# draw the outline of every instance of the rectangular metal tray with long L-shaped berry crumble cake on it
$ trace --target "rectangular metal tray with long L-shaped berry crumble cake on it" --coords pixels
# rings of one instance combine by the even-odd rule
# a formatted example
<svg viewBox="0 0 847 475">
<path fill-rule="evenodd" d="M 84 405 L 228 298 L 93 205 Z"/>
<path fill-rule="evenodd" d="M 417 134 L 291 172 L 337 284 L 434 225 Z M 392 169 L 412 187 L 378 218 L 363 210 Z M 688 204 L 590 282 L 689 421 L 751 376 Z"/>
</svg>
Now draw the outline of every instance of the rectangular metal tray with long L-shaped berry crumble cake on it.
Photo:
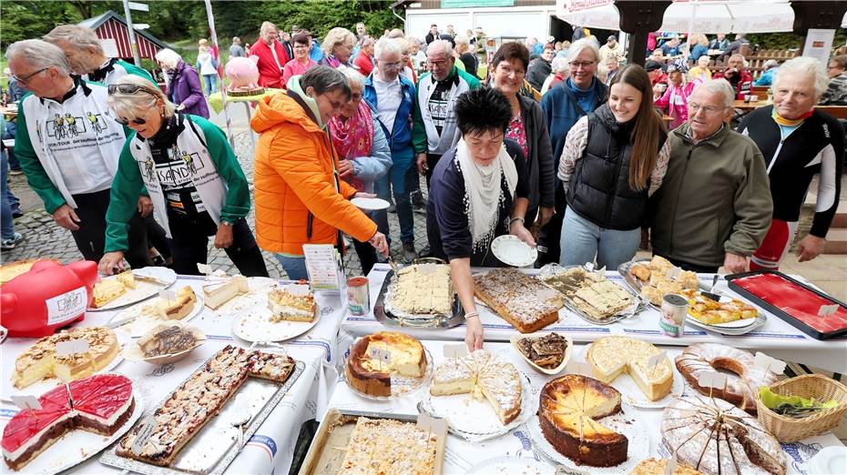
<svg viewBox="0 0 847 475">
<path fill-rule="evenodd" d="M 232 460 L 235 460 L 239 455 L 245 443 L 250 440 L 250 437 L 259 430 L 261 424 L 270 415 L 270 412 L 276 408 L 277 404 L 285 397 L 297 379 L 300 378 L 303 369 L 305 369 L 302 361 L 287 359 L 281 353 L 256 352 L 260 356 L 257 364 L 262 361 L 261 357 L 264 357 L 263 361 L 266 363 L 263 366 L 250 366 L 250 370 L 247 373 L 248 376 L 238 379 L 242 382 L 236 383 L 237 388 L 232 391 L 230 397 L 223 401 L 219 408 L 211 408 L 212 410 L 219 409 L 217 413 L 212 412 L 201 423 L 199 429 L 189 435 L 188 442 L 185 442 L 185 445 L 181 449 L 178 445 L 176 449 L 171 450 L 171 455 L 168 458 L 165 456 L 159 457 L 159 464 L 140 460 L 144 459 L 144 456 L 148 454 L 148 448 L 153 447 L 154 449 L 152 450 L 156 450 L 155 448 L 158 447 L 155 442 L 150 440 L 153 440 L 154 437 L 159 437 L 157 431 L 167 432 L 167 430 L 175 430 L 174 428 L 182 426 L 168 425 L 162 428 L 160 425 L 153 424 L 154 429 L 148 431 L 153 435 L 149 439 L 142 439 L 143 441 L 139 443 L 140 449 L 137 456 L 130 457 L 124 454 L 122 450 L 125 450 L 128 446 L 131 447 L 128 450 L 134 450 L 136 445 L 134 442 L 138 442 L 136 438 L 144 438 L 144 435 L 141 435 L 145 432 L 144 426 L 153 420 L 150 416 L 157 415 L 160 410 L 174 409 L 175 406 L 178 406 L 178 404 L 173 402 L 173 400 L 176 400 L 175 395 L 180 390 L 183 392 L 189 390 L 186 389 L 187 385 L 195 379 L 202 379 L 204 372 L 215 368 L 211 365 L 220 361 L 231 362 L 232 359 L 227 359 L 230 355 L 242 355 L 246 351 L 250 350 L 228 346 L 212 355 L 205 364 L 200 365 L 199 369 L 191 373 L 179 385 L 178 389 L 175 389 L 173 393 L 169 394 L 158 405 L 146 411 L 136 429 L 130 430 L 124 439 L 118 441 L 117 444 L 104 452 L 99 459 L 100 463 L 130 472 L 150 475 L 223 473 Z M 221 357 L 221 355 L 224 356 Z M 287 378 L 273 372 L 275 370 L 274 368 L 280 368 L 279 366 L 274 366 L 274 361 L 280 361 L 281 359 L 288 360 L 288 363 L 285 363 L 287 365 L 285 371 L 290 371 Z M 254 359 L 251 359 L 251 361 L 254 361 Z M 291 368 L 291 365 L 293 368 Z M 228 379 L 232 380 L 235 378 Z M 280 382 L 281 379 L 284 379 L 284 382 Z M 166 406 L 168 402 L 170 404 Z M 165 417 L 173 416 L 167 415 Z M 166 437 L 162 437 L 161 440 L 171 440 L 168 438 L 168 433 L 163 433 L 163 435 Z M 177 444 L 179 442 L 173 443 Z M 167 447 L 169 446 L 166 446 L 166 449 Z M 165 449 L 158 450 L 163 452 Z M 158 457 L 159 455 L 159 452 L 153 452 L 153 455 L 150 455 L 150 457 Z M 168 460 L 170 461 L 168 462 Z"/>
</svg>

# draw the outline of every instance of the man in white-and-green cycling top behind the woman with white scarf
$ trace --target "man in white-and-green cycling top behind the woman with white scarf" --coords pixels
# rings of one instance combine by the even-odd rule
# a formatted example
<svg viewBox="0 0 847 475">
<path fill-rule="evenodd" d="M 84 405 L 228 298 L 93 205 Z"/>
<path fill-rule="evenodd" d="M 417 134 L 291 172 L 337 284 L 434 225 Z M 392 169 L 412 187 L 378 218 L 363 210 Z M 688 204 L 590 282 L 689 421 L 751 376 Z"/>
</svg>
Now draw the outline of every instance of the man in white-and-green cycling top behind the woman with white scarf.
<svg viewBox="0 0 847 475">
<path fill-rule="evenodd" d="M 429 44 L 426 64 L 430 72 L 421 76 L 417 84 L 412 144 L 418 172 L 426 176 L 429 186 L 435 164 L 461 136 L 456 128 L 456 98 L 479 87 L 479 80 L 455 66 L 453 47 L 446 40 Z"/>
</svg>

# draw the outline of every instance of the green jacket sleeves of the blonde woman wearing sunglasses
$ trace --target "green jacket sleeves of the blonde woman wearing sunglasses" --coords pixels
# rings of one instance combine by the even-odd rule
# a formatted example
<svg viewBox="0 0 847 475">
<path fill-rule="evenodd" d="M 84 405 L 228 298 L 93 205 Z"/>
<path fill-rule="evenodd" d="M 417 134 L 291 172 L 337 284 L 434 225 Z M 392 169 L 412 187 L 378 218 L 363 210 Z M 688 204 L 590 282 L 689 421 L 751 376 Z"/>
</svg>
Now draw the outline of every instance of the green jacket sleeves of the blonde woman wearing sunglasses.
<svg viewBox="0 0 847 475">
<path fill-rule="evenodd" d="M 226 197 L 220 208 L 220 221 L 233 224 L 250 212 L 250 186 L 247 178 L 244 177 L 238 158 L 235 157 L 223 131 L 203 117 L 189 116 L 189 119 L 199 126 L 205 137 L 205 146 L 212 165 L 227 187 Z M 181 134 L 193 134 L 189 127 L 186 121 L 185 130 Z M 129 248 L 126 223 L 136 212 L 138 195 L 144 186 L 138 160 L 130 151 L 130 147 L 135 143 L 135 134 L 133 132 L 128 137 L 117 162 L 117 174 L 112 183 L 111 201 L 106 214 L 106 252 Z"/>
</svg>

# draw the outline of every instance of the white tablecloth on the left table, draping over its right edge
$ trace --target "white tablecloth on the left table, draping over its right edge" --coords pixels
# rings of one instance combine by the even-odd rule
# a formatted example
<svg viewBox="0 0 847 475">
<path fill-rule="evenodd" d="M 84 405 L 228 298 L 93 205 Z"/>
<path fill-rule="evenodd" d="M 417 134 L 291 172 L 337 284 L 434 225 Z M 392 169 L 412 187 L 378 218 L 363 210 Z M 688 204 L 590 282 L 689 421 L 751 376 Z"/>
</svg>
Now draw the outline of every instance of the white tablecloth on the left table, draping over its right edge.
<svg viewBox="0 0 847 475">
<path fill-rule="evenodd" d="M 200 294 L 203 278 L 180 276 L 172 288 L 190 285 Z M 339 295 L 318 293 L 316 296 L 321 317 L 317 325 L 297 339 L 285 342 L 285 350 L 293 359 L 305 363 L 305 370 L 294 383 L 285 398 L 274 409 L 260 429 L 250 439 L 240 455 L 232 461 L 230 473 L 287 473 L 291 467 L 294 445 L 297 442 L 304 421 L 315 419 L 317 414 L 326 412 L 329 397 L 335 387 L 336 336 L 341 319 L 346 312 L 341 306 Z M 96 326 L 105 324 L 118 310 L 88 312 L 86 319 L 77 326 Z M 175 364 L 151 365 L 143 362 L 121 361 L 113 372 L 126 375 L 133 380 L 136 389 L 146 402 L 145 413 L 156 409 L 158 403 L 176 389 L 183 379 L 188 378 L 206 359 L 228 344 L 249 347 L 250 343 L 234 339 L 230 330 L 229 318 L 221 318 L 209 308 L 203 308 L 200 314 L 189 321 L 190 325 L 203 330 L 207 342 L 195 349 L 187 359 Z M 3 364 L 0 365 L 0 378 L 11 378 L 15 358 L 29 348 L 35 339 L 7 339 L 0 347 Z M 275 351 L 276 349 L 270 349 Z M 2 395 L 0 401 L 0 430 L 17 412 L 17 408 Z M 72 472 L 110 473 L 119 470 L 100 464 L 99 455 L 77 465 Z M 5 464 L 3 465 L 5 467 Z M 5 471 L 5 469 L 4 469 Z"/>
</svg>

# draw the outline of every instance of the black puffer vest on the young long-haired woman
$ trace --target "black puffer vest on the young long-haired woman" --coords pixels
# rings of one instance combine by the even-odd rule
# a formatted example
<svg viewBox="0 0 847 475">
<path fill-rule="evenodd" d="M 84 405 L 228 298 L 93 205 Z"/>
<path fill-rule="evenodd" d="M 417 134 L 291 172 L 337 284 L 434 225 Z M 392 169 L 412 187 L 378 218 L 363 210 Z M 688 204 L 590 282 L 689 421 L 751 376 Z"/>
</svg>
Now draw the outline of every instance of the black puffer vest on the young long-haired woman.
<svg viewBox="0 0 847 475">
<path fill-rule="evenodd" d="M 587 145 L 570 178 L 567 204 L 599 227 L 626 231 L 644 223 L 648 189 L 629 187 L 634 125 L 634 120 L 617 123 L 607 104 L 588 114 Z M 658 143 L 665 138 L 662 134 Z"/>
</svg>

